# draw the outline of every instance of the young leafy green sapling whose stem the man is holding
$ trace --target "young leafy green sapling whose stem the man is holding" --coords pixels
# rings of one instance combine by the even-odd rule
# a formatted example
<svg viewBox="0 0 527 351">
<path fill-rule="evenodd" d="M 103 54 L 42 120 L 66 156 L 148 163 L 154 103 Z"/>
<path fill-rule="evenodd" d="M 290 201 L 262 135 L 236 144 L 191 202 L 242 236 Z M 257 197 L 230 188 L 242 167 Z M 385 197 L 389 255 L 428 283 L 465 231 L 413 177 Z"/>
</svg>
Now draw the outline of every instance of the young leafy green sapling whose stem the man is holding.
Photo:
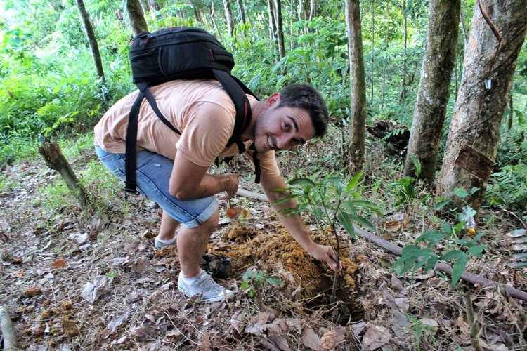
<svg viewBox="0 0 527 351">
<path fill-rule="evenodd" d="M 287 208 L 284 213 L 308 213 L 315 218 L 315 223 L 327 237 L 335 256 L 337 267 L 340 267 L 340 238 L 337 228 L 340 226 L 351 237 L 356 237 L 353 223 L 371 230 L 375 230 L 372 223 L 358 214 L 358 208 L 367 208 L 376 213 L 381 213 L 379 206 L 365 201 L 359 192 L 360 178 L 363 173 L 357 173 L 348 183 L 334 176 L 327 176 L 323 180 L 311 178 L 294 178 L 289 181 L 289 187 L 282 191 L 289 194 L 280 199 L 279 203 L 292 199 L 297 200 L 297 207 Z M 331 303 L 335 300 L 339 272 L 335 270 L 331 292 Z"/>
</svg>

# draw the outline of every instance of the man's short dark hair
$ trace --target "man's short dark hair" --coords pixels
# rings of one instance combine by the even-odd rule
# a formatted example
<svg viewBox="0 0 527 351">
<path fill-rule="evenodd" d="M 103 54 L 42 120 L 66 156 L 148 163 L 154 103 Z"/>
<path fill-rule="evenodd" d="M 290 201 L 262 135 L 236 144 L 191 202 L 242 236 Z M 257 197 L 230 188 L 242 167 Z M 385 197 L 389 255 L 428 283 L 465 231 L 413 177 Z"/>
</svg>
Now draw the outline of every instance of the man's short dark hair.
<svg viewBox="0 0 527 351">
<path fill-rule="evenodd" d="M 327 121 L 330 119 L 326 103 L 312 86 L 308 84 L 286 86 L 280 91 L 278 107 L 300 107 L 307 110 L 315 127 L 315 136 L 323 136 L 326 133 Z"/>
</svg>

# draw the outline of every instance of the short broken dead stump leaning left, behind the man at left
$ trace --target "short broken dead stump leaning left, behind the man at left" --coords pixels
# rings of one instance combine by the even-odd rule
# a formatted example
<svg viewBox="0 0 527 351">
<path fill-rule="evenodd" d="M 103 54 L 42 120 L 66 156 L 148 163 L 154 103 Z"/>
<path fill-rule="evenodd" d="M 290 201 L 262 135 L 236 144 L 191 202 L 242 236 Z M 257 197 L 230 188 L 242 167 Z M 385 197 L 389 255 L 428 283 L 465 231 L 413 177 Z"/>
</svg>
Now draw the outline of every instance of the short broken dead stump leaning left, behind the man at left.
<svg viewBox="0 0 527 351">
<path fill-rule="evenodd" d="M 46 138 L 44 139 L 42 145 L 39 146 L 39 152 L 42 157 L 44 157 L 46 165 L 49 168 L 58 171 L 60 176 L 62 176 L 63 180 L 67 185 L 67 188 L 73 194 L 75 199 L 79 201 L 81 208 L 83 210 L 86 209 L 89 204 L 88 194 L 84 190 L 84 187 L 82 187 L 82 185 L 79 183 L 79 179 L 77 178 L 77 176 L 75 176 L 75 173 L 73 172 L 70 163 L 67 161 L 66 157 L 64 157 L 64 154 L 62 150 L 60 150 L 60 146 L 58 145 L 58 143 L 51 143 Z"/>
</svg>

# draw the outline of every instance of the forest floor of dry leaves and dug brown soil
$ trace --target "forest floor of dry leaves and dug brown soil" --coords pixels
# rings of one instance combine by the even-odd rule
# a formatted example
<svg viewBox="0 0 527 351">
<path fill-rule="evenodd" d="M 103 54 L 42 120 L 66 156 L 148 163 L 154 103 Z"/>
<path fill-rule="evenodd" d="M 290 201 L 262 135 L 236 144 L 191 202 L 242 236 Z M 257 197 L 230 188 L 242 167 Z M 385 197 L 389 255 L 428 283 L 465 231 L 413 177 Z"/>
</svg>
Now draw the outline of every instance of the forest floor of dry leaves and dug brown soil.
<svg viewBox="0 0 527 351">
<path fill-rule="evenodd" d="M 320 147 L 307 152 L 317 157 Z M 70 161 L 83 173 L 98 161 L 91 150 L 80 151 Z M 389 157 L 372 148 L 367 173 L 382 174 L 379 167 Z M 304 164 L 282 159 L 282 169 L 294 174 L 310 165 L 310 156 L 301 159 Z M 7 165 L 1 173 L 12 184 L 0 194 L 0 304 L 8 307 L 21 349 L 473 350 L 473 335 L 483 350 L 527 350 L 523 301 L 504 289 L 463 282 L 452 288 L 441 272 L 398 277 L 391 270 L 397 257 L 361 237 L 342 234 L 344 270 L 337 303 L 330 303 L 332 271 L 296 244 L 267 203 L 241 197 L 231 205 L 247 213 L 230 218 L 223 204 L 209 245 L 209 258 L 226 256 L 230 264 L 204 264 L 226 275 L 217 280 L 235 297 L 196 303 L 178 292 L 176 248 L 153 246 L 160 209 L 151 201 L 126 199 L 120 184 L 100 173 L 88 187 L 104 205 L 83 213 L 72 197 L 53 195 L 61 180 L 44 161 Z M 258 191 L 246 173 L 241 187 Z M 438 225 L 419 201 L 392 210 L 370 220 L 379 228 L 375 234 L 399 246 Z M 386 225 L 388 215 L 407 220 L 393 227 L 393 221 Z M 479 222 L 479 230 L 488 231 L 482 242 L 487 249 L 483 258 L 469 260 L 467 270 L 527 291 L 527 270 L 512 267 L 505 236 L 518 227 L 514 216 L 486 209 Z M 306 225 L 317 241 L 327 240 L 308 218 Z M 215 270 L 214 263 L 230 270 Z M 269 279 L 259 289 L 253 282 L 243 290 L 249 269 L 280 284 Z M 469 291 L 474 325 L 462 291 Z"/>
</svg>

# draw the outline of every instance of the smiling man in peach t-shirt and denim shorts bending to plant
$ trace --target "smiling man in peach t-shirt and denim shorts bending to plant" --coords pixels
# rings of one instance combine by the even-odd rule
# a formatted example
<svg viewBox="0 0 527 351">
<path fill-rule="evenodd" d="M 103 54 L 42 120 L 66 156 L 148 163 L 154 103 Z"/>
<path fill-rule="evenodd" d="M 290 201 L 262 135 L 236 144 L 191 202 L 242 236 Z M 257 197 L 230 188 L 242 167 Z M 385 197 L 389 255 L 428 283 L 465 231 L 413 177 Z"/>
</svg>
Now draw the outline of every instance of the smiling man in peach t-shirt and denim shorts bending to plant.
<svg viewBox="0 0 527 351">
<path fill-rule="evenodd" d="M 211 79 L 169 81 L 151 88 L 157 106 L 181 136 L 171 131 L 143 101 L 138 117 L 138 190 L 163 209 L 160 233 L 155 246 L 177 244 L 181 273 L 178 289 L 201 301 L 228 299 L 233 291 L 224 289 L 200 269 L 200 260 L 219 220 L 219 199 L 230 199 L 238 190 L 233 173 L 207 173 L 216 157 L 233 156 L 237 145 L 225 147 L 233 133 L 235 107 L 221 85 Z M 137 91 L 117 102 L 95 127 L 96 152 L 100 161 L 124 180 L 126 126 Z M 273 191 L 284 188 L 275 160 L 275 150 L 289 150 L 321 136 L 327 128 L 327 107 L 311 86 L 288 86 L 266 100 L 247 95 L 252 120 L 242 135 L 248 146 L 254 143 L 261 164 L 261 186 L 271 204 L 285 196 Z M 252 159 L 249 150 L 247 156 Z M 293 201 L 274 205 L 296 206 Z M 315 244 L 301 218 L 285 216 L 280 220 L 294 239 L 313 258 L 337 270 L 337 258 L 330 246 Z M 177 235 L 176 235 L 177 231 Z"/>
</svg>

